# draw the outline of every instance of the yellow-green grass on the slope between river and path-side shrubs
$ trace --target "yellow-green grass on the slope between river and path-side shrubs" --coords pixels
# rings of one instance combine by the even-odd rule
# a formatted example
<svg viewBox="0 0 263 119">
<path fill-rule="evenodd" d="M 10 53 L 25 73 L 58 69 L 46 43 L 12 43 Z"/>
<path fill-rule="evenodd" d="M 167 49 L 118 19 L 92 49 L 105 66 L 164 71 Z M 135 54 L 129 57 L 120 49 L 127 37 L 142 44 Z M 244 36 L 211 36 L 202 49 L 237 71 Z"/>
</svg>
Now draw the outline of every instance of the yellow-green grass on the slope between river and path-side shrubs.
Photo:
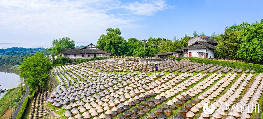
<svg viewBox="0 0 263 119">
<path fill-rule="evenodd" d="M 9 89 L 8 92 L 0 100 L 0 118 L 8 118 L 11 116 L 11 113 L 14 111 L 14 108 L 11 107 L 12 102 L 20 96 L 20 88 L 15 87 Z M 11 110 L 9 109 L 11 108 Z M 6 112 L 8 110 L 8 112 Z M 5 114 L 6 113 L 6 114 Z"/>
</svg>

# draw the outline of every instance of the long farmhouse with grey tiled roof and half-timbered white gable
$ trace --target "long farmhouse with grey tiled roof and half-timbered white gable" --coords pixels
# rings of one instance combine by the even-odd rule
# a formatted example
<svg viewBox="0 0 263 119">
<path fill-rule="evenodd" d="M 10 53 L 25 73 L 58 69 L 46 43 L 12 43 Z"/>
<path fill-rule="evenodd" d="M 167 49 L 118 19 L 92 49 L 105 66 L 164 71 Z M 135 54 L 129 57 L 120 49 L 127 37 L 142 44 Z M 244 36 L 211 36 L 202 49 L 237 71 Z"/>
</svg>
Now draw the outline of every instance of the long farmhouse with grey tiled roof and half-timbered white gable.
<svg viewBox="0 0 263 119">
<path fill-rule="evenodd" d="M 92 58 L 92 57 L 109 57 L 110 53 L 93 44 L 87 45 L 82 49 L 61 49 L 63 57 L 75 58 Z"/>
</svg>

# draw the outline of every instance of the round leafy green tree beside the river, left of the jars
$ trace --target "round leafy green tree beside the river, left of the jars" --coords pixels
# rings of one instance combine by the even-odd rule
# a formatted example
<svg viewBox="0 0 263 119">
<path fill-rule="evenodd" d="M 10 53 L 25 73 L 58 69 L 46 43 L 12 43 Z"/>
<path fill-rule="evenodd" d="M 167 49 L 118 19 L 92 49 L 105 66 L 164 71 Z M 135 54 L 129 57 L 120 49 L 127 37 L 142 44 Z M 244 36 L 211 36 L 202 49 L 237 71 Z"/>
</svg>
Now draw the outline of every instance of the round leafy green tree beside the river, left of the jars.
<svg viewBox="0 0 263 119">
<path fill-rule="evenodd" d="M 52 63 L 43 53 L 36 53 L 22 62 L 20 66 L 20 78 L 26 79 L 26 83 L 31 89 L 38 88 L 40 92 L 42 87 L 48 83 L 48 73 Z"/>
</svg>

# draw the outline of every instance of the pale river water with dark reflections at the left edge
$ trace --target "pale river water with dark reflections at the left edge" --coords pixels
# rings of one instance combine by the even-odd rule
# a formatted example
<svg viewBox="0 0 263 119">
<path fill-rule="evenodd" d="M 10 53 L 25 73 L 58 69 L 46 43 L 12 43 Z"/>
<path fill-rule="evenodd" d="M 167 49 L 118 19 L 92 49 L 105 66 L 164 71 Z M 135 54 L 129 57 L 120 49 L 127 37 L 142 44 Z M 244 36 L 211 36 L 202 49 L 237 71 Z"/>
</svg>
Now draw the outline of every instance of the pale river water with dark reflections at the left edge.
<svg viewBox="0 0 263 119">
<path fill-rule="evenodd" d="M 10 89 L 20 84 L 19 70 L 10 69 L 8 66 L 0 65 L 0 87 L 1 89 Z M 6 94 L 0 93 L 0 99 Z"/>
</svg>

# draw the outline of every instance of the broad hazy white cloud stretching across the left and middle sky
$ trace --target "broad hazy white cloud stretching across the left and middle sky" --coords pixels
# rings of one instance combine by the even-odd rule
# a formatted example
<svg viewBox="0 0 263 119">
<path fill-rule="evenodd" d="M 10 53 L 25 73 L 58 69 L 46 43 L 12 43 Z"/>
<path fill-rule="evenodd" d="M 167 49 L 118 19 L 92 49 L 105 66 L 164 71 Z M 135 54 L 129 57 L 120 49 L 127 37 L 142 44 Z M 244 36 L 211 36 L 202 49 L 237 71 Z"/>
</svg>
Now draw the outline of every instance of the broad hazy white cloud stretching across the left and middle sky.
<svg viewBox="0 0 263 119">
<path fill-rule="evenodd" d="M 122 5 L 124 4 L 124 5 Z M 122 3 L 119 0 L 1 0 L 0 33 L 52 36 L 93 36 L 106 28 L 141 27 L 135 22 L 166 8 L 166 2 Z M 123 11 L 119 15 L 111 11 Z"/>
</svg>

